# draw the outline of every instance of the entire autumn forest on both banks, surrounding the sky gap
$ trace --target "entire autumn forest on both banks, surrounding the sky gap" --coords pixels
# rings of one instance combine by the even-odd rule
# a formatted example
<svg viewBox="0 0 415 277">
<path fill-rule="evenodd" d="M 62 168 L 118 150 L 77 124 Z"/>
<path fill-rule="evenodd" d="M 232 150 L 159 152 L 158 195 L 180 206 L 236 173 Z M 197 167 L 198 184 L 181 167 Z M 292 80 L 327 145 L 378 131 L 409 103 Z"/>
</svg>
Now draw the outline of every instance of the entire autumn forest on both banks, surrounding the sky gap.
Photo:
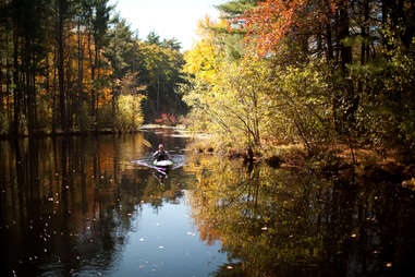
<svg viewBox="0 0 415 277">
<path fill-rule="evenodd" d="M 414 157 L 413 1 L 224 1 L 184 53 L 175 38 L 139 39 L 108 0 L 0 9 L 2 136 L 127 132 L 186 115 L 219 150 Z"/>
</svg>

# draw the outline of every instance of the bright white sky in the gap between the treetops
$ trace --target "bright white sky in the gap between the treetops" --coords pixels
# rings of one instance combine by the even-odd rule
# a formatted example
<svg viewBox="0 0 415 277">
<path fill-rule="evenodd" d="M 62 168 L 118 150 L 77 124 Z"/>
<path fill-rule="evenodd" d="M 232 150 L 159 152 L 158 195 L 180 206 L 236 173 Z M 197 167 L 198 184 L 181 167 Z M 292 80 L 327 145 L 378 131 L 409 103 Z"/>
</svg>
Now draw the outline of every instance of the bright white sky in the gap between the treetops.
<svg viewBox="0 0 415 277">
<path fill-rule="evenodd" d="M 160 38 L 176 38 L 183 50 L 190 50 L 196 35 L 197 22 L 209 15 L 219 16 L 215 5 L 224 0 L 112 0 L 121 17 L 138 29 L 138 37 L 145 39 L 151 31 Z"/>
</svg>

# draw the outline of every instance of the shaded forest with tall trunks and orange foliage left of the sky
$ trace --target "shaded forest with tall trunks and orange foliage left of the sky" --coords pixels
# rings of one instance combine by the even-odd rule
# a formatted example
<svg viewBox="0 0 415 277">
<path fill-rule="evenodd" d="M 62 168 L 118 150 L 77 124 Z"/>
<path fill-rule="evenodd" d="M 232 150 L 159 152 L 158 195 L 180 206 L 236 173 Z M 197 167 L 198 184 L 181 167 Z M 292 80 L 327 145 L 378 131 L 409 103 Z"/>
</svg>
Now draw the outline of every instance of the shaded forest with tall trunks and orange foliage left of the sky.
<svg viewBox="0 0 415 277">
<path fill-rule="evenodd" d="M 181 44 L 138 39 L 108 0 L 0 3 L 0 135 L 136 131 L 183 113 Z"/>
</svg>

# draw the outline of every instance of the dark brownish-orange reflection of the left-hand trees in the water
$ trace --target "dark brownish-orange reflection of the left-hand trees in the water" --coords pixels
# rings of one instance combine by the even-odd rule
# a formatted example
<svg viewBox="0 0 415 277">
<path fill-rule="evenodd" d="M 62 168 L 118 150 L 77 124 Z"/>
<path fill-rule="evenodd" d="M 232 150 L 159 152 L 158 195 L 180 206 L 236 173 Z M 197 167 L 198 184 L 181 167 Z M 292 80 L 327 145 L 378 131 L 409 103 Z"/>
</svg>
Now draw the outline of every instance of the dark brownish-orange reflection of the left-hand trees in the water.
<svg viewBox="0 0 415 277">
<path fill-rule="evenodd" d="M 57 137 L 0 142 L 0 246 L 3 276 L 68 275 L 109 268 L 141 205 L 176 202 L 182 188 L 159 185 L 129 162 L 143 137 Z"/>
</svg>

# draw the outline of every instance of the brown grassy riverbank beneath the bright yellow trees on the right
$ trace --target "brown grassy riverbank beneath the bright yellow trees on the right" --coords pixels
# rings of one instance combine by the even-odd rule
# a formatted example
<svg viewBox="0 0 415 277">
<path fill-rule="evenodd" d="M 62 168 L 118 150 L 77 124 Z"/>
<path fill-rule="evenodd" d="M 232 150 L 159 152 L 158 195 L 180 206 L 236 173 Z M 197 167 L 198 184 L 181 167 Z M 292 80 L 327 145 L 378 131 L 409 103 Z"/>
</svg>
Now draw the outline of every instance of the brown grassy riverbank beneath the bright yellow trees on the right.
<svg viewBox="0 0 415 277">
<path fill-rule="evenodd" d="M 208 135 L 198 136 L 188 148 L 199 154 L 243 159 L 245 164 L 266 164 L 272 168 L 294 171 L 307 169 L 324 176 L 358 174 L 371 181 L 401 183 L 415 191 L 415 165 L 400 161 L 392 152 L 380 155 L 373 149 L 351 149 L 340 143 L 315 155 L 307 153 L 302 144 L 282 144 L 256 150 L 218 148 Z"/>
</svg>

